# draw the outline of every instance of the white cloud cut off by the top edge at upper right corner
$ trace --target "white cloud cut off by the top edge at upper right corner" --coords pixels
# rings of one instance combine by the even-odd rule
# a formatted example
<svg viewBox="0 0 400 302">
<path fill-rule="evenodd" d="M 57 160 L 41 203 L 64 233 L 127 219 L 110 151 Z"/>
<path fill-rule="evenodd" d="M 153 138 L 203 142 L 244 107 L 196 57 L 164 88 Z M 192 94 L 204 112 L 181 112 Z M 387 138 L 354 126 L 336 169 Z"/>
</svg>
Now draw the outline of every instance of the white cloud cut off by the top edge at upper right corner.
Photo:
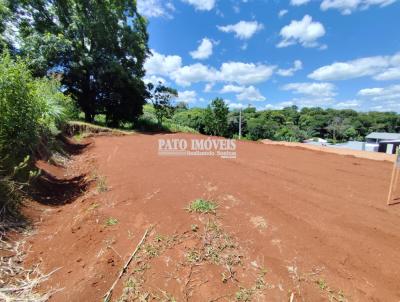
<svg viewBox="0 0 400 302">
<path fill-rule="evenodd" d="M 397 0 L 323 0 L 321 10 L 337 9 L 343 15 L 350 15 L 356 10 L 366 10 L 372 5 L 388 6 Z"/>
</svg>

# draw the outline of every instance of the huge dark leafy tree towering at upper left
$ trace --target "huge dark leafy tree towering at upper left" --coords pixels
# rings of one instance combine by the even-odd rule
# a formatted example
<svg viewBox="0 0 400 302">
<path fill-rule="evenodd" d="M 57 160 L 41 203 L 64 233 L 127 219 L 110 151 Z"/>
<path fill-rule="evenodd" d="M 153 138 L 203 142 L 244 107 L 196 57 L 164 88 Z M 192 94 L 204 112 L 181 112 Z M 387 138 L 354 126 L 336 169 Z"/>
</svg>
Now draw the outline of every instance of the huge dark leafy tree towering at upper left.
<svg viewBox="0 0 400 302">
<path fill-rule="evenodd" d="M 61 73 L 87 121 L 103 113 L 116 126 L 142 112 L 149 49 L 136 1 L 16 0 L 10 7 L 35 75 Z"/>
</svg>

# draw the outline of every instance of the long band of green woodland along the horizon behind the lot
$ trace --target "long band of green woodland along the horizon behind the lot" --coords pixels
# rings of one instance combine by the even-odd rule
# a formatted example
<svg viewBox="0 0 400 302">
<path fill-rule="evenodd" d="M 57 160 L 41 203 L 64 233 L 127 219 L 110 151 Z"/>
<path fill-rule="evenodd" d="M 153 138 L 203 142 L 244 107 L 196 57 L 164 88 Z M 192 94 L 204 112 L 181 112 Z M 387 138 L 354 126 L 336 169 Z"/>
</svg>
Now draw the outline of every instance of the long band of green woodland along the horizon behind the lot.
<svg viewBox="0 0 400 302">
<path fill-rule="evenodd" d="M 176 124 L 189 126 L 203 134 L 221 135 L 218 124 L 225 128 L 225 118 L 216 118 L 213 104 L 208 108 L 183 109 L 176 112 L 172 120 Z M 225 116 L 226 108 L 221 116 Z M 220 121 L 218 123 L 217 121 Z M 239 111 L 227 114 L 227 128 L 222 131 L 226 137 L 237 137 Z M 282 110 L 260 110 L 249 107 L 242 110 L 242 135 L 246 139 L 302 141 L 315 137 L 333 142 L 364 140 L 373 131 L 400 132 L 400 115 L 394 112 L 356 112 L 354 110 L 334 110 L 322 108 L 302 108 L 296 106 Z M 218 134 L 217 134 L 218 133 Z"/>
</svg>

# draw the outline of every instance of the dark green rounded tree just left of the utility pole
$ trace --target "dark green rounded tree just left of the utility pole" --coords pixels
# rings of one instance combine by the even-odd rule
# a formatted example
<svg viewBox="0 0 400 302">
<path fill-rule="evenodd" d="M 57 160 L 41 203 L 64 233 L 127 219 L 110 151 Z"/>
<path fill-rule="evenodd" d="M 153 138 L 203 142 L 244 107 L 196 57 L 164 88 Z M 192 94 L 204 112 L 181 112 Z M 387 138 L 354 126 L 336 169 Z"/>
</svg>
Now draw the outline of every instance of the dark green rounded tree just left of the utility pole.
<svg viewBox="0 0 400 302">
<path fill-rule="evenodd" d="M 207 134 L 225 136 L 228 130 L 229 108 L 221 98 L 214 99 L 207 106 L 204 116 L 205 129 Z"/>
</svg>

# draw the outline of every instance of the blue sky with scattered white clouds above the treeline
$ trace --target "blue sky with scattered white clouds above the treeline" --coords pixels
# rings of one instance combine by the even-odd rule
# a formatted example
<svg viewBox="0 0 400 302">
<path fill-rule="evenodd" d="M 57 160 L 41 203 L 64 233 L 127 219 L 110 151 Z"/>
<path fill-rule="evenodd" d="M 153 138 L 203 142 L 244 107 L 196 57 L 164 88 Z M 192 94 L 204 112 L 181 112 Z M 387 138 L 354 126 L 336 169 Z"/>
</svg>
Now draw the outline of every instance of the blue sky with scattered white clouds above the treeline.
<svg viewBox="0 0 400 302">
<path fill-rule="evenodd" d="M 146 81 L 231 108 L 400 112 L 397 0 L 138 0 Z"/>
</svg>

